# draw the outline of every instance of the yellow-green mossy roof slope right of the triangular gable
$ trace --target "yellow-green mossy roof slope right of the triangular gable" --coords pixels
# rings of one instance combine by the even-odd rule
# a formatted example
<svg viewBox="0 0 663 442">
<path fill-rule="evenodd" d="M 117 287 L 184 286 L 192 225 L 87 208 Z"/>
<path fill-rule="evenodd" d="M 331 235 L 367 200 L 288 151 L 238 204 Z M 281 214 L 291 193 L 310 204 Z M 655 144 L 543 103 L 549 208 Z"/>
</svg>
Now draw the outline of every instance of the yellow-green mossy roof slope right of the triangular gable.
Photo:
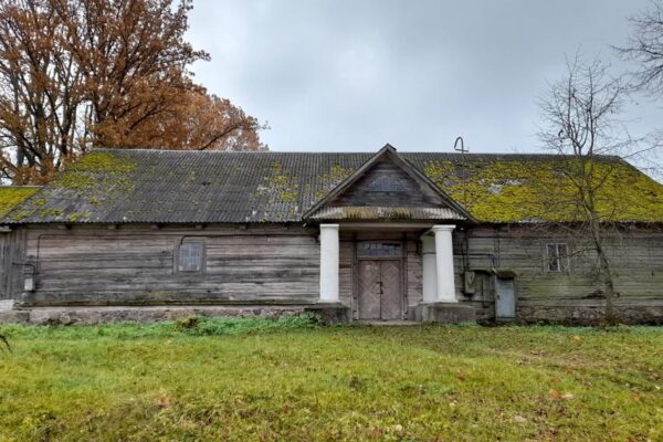
<svg viewBox="0 0 663 442">
<path fill-rule="evenodd" d="M 663 221 L 663 186 L 621 160 L 601 159 L 594 167 L 603 220 Z M 562 170 L 569 170 L 568 160 L 503 159 L 429 161 L 424 173 L 480 221 L 582 220 L 577 189 Z"/>
</svg>

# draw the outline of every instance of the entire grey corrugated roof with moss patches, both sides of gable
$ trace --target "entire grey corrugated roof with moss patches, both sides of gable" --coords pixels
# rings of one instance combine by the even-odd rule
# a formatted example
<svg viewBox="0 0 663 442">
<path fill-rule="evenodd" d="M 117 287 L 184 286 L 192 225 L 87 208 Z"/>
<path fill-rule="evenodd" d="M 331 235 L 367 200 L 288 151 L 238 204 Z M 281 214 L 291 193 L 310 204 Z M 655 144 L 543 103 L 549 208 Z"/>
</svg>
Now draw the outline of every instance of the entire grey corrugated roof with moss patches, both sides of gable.
<svg viewBox="0 0 663 442">
<path fill-rule="evenodd" d="M 2 222 L 299 222 L 303 213 L 372 155 L 96 149 L 14 208 Z M 549 201 L 536 207 L 528 201 L 534 188 L 541 187 L 533 177 L 544 169 L 550 182 L 543 187 L 564 188 L 564 180 L 544 167 L 558 160 L 556 156 L 399 155 L 480 221 L 566 220 L 572 211 Z M 620 214 L 615 220 L 663 221 L 661 185 L 618 158 L 602 161 L 618 171 L 607 192 L 620 192 L 620 204 L 631 207 L 630 211 L 610 208 Z M 448 213 L 435 215 L 444 219 Z"/>
</svg>

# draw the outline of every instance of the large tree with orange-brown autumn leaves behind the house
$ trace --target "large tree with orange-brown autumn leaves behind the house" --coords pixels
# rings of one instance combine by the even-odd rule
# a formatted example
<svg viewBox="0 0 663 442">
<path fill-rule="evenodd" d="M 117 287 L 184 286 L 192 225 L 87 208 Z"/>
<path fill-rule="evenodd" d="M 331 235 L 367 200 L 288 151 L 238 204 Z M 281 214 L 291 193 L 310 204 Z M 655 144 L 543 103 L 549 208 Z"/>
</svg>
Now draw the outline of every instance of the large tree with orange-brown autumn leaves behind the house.
<svg viewBox="0 0 663 442">
<path fill-rule="evenodd" d="M 0 0 L 0 179 L 49 180 L 93 146 L 265 148 L 193 83 L 191 0 Z"/>
</svg>

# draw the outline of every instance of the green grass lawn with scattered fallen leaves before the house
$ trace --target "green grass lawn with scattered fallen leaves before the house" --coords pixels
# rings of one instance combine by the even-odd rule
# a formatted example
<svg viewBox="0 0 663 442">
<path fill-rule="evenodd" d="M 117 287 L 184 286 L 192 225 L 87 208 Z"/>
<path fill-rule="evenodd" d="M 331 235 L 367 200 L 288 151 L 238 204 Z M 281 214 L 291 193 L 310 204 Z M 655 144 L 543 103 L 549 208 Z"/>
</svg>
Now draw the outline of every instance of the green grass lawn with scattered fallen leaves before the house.
<svg viewBox="0 0 663 442">
<path fill-rule="evenodd" d="M 248 324 L 0 327 L 0 441 L 663 440 L 663 328 Z"/>
</svg>

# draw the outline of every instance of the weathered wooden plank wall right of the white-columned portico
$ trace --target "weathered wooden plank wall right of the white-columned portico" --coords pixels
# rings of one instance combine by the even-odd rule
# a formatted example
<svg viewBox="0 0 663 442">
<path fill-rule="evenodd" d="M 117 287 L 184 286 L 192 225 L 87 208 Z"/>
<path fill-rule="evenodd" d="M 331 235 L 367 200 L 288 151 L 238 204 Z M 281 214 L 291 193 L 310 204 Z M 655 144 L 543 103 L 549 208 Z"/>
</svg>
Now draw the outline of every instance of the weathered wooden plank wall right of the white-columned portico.
<svg viewBox="0 0 663 442">
<path fill-rule="evenodd" d="M 469 252 L 465 257 L 469 270 L 490 269 L 490 256 L 493 256 L 495 267 L 515 272 L 516 307 L 522 319 L 572 319 L 571 315 L 583 314 L 582 308 L 603 305 L 598 292 L 601 284 L 594 271 L 596 256 L 564 232 L 511 227 L 473 229 L 466 235 L 466 240 L 464 234 L 454 236 L 459 296 L 485 308 L 485 315 L 492 315 L 491 290 L 470 297 L 462 294 L 463 250 Z M 568 272 L 549 272 L 546 267 L 546 244 L 558 242 L 568 243 L 573 253 Z M 660 311 L 663 315 L 663 231 L 656 228 L 615 231 L 608 249 L 619 292 L 619 309 L 638 316 L 640 313 L 631 312 L 632 308 L 651 307 L 649 313 L 642 314 L 657 315 Z M 580 253 L 582 251 L 586 252 Z M 481 283 L 485 284 L 485 280 Z"/>
</svg>

